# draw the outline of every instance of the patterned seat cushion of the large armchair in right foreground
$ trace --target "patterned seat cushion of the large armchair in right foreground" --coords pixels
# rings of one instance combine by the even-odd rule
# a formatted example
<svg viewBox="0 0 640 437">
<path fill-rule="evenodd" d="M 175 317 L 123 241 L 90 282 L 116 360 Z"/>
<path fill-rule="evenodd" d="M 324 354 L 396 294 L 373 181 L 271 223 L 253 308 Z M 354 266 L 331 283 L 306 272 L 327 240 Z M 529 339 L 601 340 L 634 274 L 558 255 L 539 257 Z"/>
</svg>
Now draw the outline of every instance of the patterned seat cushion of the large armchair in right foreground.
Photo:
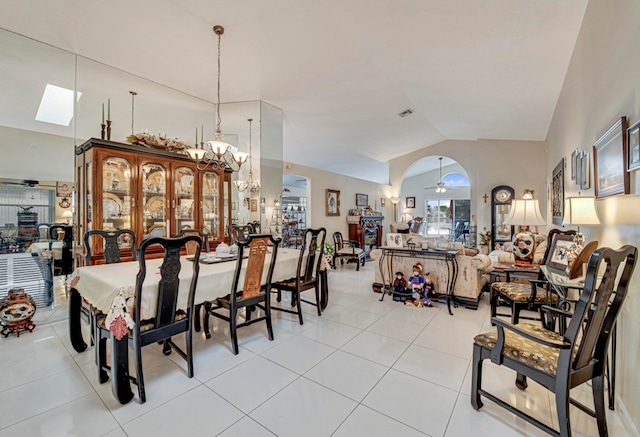
<svg viewBox="0 0 640 437">
<path fill-rule="evenodd" d="M 523 331 L 527 331 L 536 337 L 562 344 L 562 336 L 553 331 L 546 330 L 538 325 L 519 323 L 516 325 Z M 504 330 L 505 345 L 503 355 L 526 366 L 533 367 L 550 375 L 555 375 L 558 367 L 560 349 L 554 349 L 526 339 L 515 332 Z M 477 335 L 473 341 L 485 349 L 493 349 L 498 339 L 497 332 L 486 332 Z"/>
</svg>

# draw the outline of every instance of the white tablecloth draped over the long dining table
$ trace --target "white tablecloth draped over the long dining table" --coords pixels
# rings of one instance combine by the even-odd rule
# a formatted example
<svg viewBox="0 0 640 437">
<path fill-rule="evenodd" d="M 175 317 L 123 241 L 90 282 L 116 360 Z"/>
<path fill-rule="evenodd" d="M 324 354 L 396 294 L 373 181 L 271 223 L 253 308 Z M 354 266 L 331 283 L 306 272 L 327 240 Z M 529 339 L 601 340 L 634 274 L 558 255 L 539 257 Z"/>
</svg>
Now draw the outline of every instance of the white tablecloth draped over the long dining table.
<svg viewBox="0 0 640 437">
<path fill-rule="evenodd" d="M 294 277 L 298 266 L 299 250 L 279 249 L 278 259 L 273 272 L 273 281 L 281 281 Z M 178 308 L 186 308 L 188 300 L 188 289 L 192 275 L 193 262 L 187 260 L 186 256 L 181 258 L 182 268 L 180 270 L 180 292 L 178 295 Z M 265 260 L 263 280 L 266 278 L 270 256 Z M 200 263 L 200 273 L 196 287 L 195 303 L 214 300 L 225 296 L 231 291 L 233 274 L 237 261 L 221 262 L 216 264 Z M 246 266 L 247 260 L 243 260 Z M 162 258 L 147 260 L 147 276 L 143 285 L 142 293 L 142 318 L 148 319 L 155 316 L 157 301 L 157 283 L 160 279 L 159 268 Z M 73 273 L 73 277 L 79 280 L 75 284 L 76 290 L 91 305 L 100 311 L 107 313 L 118 291 L 122 287 L 134 286 L 139 264 L 137 261 L 103 264 L 94 266 L 78 267 Z M 240 288 L 244 281 L 244 269 L 240 277 Z"/>
</svg>

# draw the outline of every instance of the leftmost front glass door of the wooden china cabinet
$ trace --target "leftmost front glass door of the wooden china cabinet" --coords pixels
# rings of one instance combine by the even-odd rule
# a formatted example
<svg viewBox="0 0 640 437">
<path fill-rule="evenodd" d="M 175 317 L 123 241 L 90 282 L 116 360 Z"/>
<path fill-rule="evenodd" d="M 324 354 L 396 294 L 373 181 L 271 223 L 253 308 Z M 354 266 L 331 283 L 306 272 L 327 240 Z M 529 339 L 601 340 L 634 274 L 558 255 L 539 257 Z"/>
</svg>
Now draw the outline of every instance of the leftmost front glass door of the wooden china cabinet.
<svg viewBox="0 0 640 437">
<path fill-rule="evenodd" d="M 88 178 L 87 196 L 91 205 L 91 186 Z M 102 161 L 102 229 L 131 229 L 131 163 L 123 158 Z M 92 229 L 91 211 L 88 228 Z"/>
</svg>

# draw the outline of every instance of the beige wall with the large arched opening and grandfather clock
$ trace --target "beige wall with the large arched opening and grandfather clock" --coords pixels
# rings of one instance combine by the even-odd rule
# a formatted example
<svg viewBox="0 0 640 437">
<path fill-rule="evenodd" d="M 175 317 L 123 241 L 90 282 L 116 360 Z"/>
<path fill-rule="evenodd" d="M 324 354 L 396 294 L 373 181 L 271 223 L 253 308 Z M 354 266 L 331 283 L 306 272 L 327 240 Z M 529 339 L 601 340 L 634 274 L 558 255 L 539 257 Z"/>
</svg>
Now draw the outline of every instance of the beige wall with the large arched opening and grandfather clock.
<svg viewBox="0 0 640 437">
<path fill-rule="evenodd" d="M 535 190 L 535 196 L 540 200 L 540 210 L 542 214 L 546 214 L 547 173 L 542 142 L 447 140 L 425 147 L 389 163 L 390 195 L 400 197 L 398 193 L 405 172 L 426 156 L 451 158 L 464 169 L 471 184 L 471 212 L 476 214 L 478 232 L 485 226 L 487 229 L 491 228 L 491 199 L 485 203 L 483 196 L 491 195 L 491 189 L 497 185 L 510 185 L 515 189 L 516 196 L 521 196 L 525 188 Z M 404 196 L 405 192 L 407 191 L 400 194 Z M 401 204 L 403 202 L 404 199 Z M 548 223 L 551 223 L 550 218 Z M 540 232 L 544 231 L 545 229 L 540 229 Z"/>
</svg>

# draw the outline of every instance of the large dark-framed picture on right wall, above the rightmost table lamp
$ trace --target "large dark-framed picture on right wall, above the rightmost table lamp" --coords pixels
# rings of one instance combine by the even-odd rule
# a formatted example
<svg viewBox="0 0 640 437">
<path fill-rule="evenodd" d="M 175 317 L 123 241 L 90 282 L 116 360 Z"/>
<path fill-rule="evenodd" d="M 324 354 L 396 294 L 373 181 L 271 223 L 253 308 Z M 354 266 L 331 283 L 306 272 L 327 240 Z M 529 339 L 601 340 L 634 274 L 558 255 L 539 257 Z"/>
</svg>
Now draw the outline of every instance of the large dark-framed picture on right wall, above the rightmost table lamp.
<svg viewBox="0 0 640 437">
<path fill-rule="evenodd" d="M 629 194 L 627 117 L 621 117 L 593 144 L 593 184 L 596 199 Z"/>
</svg>

